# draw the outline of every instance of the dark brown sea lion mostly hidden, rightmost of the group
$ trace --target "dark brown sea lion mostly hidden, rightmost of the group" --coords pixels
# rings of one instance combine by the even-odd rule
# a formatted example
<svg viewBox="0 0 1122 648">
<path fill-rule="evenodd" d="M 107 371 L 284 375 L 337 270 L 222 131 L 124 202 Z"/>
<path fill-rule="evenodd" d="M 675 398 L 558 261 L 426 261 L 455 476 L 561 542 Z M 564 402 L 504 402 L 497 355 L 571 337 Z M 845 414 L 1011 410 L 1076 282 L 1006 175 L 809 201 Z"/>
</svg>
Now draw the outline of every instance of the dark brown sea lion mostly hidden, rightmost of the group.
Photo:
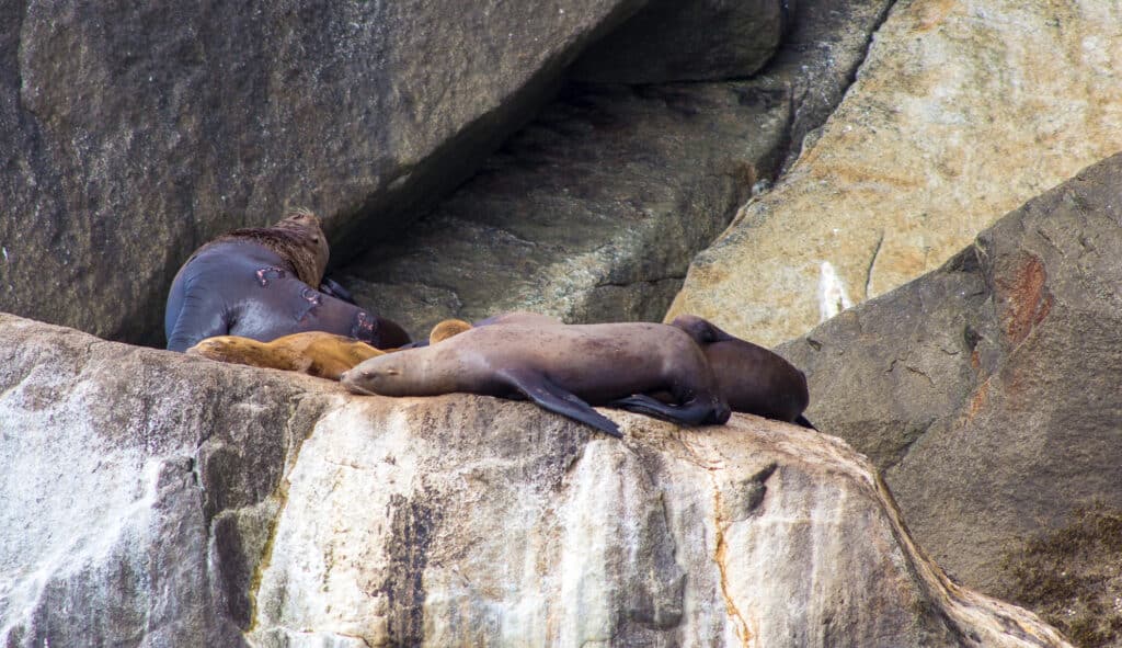
<svg viewBox="0 0 1122 648">
<path fill-rule="evenodd" d="M 701 347 L 720 395 L 734 412 L 794 422 L 816 429 L 803 410 L 810 403 L 807 376 L 778 354 L 734 337 L 697 316 L 674 318 L 678 327 Z"/>
</svg>

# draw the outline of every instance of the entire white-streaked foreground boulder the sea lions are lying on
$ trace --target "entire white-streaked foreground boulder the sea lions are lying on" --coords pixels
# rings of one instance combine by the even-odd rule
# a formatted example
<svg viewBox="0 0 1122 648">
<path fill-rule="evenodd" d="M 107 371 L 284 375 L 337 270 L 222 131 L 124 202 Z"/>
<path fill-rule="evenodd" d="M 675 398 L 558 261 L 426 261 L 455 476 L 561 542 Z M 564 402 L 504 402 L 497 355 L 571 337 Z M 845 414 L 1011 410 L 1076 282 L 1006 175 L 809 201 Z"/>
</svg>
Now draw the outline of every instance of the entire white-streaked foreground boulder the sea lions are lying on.
<svg viewBox="0 0 1122 648">
<path fill-rule="evenodd" d="M 0 642 L 1068 646 L 844 442 L 605 412 L 623 440 L 0 316 Z"/>
</svg>

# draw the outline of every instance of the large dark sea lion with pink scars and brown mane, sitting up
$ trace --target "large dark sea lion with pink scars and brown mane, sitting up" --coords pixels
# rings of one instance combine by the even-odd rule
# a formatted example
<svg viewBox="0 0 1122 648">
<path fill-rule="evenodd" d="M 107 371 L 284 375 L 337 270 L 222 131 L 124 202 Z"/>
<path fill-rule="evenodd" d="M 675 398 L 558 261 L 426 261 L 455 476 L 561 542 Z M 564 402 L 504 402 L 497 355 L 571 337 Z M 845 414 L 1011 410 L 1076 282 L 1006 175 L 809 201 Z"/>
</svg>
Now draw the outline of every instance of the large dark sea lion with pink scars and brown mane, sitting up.
<svg viewBox="0 0 1122 648">
<path fill-rule="evenodd" d="M 320 219 L 310 211 L 208 243 L 172 282 L 164 316 L 167 348 L 182 352 L 221 335 L 268 341 L 313 330 L 379 348 L 408 344 L 395 322 L 312 288 L 323 279 L 328 254 Z"/>
</svg>

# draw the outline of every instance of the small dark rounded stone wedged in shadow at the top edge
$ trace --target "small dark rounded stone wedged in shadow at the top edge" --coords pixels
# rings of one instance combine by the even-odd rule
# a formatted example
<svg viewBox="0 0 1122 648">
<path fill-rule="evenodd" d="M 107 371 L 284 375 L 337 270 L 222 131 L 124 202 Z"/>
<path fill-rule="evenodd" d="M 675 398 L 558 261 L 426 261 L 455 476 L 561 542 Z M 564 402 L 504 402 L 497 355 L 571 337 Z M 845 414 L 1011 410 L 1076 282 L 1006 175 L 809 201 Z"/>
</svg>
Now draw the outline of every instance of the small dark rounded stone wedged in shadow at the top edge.
<svg viewBox="0 0 1122 648">
<path fill-rule="evenodd" d="M 775 53 L 789 10 L 787 0 L 652 0 L 589 47 L 570 75 L 597 83 L 744 79 Z"/>
</svg>

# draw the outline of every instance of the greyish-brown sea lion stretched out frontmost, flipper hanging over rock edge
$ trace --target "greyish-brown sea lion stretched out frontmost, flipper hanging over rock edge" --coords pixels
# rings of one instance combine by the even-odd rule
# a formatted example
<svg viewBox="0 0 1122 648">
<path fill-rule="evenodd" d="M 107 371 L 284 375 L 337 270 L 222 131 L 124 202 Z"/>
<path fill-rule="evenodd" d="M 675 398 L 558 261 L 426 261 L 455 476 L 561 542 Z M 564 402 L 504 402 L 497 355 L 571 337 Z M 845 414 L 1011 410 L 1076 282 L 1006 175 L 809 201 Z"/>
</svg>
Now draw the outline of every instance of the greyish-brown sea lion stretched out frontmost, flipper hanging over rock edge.
<svg viewBox="0 0 1122 648">
<path fill-rule="evenodd" d="M 650 322 L 482 326 L 370 358 L 341 381 L 360 394 L 524 396 L 615 437 L 619 428 L 590 405 L 640 399 L 631 403 L 635 411 L 681 425 L 724 423 L 729 416 L 700 347 L 677 327 Z M 656 392 L 674 403 L 641 398 Z"/>
</svg>

